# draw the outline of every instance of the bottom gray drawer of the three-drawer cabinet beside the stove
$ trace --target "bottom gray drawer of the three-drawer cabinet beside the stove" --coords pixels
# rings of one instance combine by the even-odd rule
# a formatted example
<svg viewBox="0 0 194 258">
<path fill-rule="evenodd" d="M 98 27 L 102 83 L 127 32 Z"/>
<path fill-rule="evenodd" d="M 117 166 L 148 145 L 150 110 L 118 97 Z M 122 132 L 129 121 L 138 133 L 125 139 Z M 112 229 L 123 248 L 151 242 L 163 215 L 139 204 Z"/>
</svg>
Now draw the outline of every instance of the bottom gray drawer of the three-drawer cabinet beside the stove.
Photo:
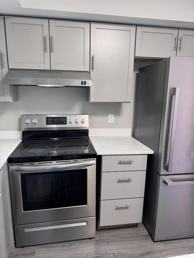
<svg viewBox="0 0 194 258">
<path fill-rule="evenodd" d="M 142 211 L 143 198 L 101 201 L 100 226 L 142 222 Z"/>
</svg>

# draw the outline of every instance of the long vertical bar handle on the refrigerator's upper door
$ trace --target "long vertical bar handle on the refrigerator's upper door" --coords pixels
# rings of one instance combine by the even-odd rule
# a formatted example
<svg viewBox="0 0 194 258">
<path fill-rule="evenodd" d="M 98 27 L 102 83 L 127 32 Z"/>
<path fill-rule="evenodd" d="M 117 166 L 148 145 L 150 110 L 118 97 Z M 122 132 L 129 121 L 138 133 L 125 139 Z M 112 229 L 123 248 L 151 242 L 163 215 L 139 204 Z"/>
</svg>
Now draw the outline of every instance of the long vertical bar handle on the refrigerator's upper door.
<svg viewBox="0 0 194 258">
<path fill-rule="evenodd" d="M 171 131 L 171 138 L 170 138 L 169 160 L 168 160 L 168 163 L 165 164 L 165 170 L 168 172 L 172 172 L 172 160 L 173 160 L 175 131 L 176 131 L 176 118 L 177 118 L 178 105 L 179 105 L 179 91 L 180 91 L 180 88 L 172 88 L 172 95 L 175 95 L 175 100 L 174 100 L 174 109 L 173 109 L 173 116 L 172 116 L 172 131 Z"/>
</svg>

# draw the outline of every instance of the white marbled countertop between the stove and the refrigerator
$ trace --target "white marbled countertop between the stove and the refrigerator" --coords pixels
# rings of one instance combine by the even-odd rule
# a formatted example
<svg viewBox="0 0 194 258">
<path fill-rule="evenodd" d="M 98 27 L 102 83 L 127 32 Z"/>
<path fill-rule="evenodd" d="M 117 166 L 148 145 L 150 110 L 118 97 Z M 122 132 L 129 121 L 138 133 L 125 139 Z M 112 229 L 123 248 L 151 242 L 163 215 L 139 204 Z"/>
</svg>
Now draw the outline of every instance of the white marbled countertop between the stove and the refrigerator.
<svg viewBox="0 0 194 258">
<path fill-rule="evenodd" d="M 154 152 L 132 136 L 90 136 L 98 155 L 137 155 Z"/>
</svg>

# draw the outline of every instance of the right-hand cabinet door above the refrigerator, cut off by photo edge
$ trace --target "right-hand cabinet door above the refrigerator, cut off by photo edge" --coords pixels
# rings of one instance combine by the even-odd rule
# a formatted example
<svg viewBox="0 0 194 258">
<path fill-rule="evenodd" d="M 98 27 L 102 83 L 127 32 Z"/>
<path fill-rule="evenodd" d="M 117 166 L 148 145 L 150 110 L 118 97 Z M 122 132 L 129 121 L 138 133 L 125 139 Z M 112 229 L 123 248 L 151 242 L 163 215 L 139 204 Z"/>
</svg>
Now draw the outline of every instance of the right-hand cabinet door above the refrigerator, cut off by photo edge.
<svg viewBox="0 0 194 258">
<path fill-rule="evenodd" d="M 194 30 L 179 30 L 176 55 L 179 57 L 194 57 Z"/>
</svg>

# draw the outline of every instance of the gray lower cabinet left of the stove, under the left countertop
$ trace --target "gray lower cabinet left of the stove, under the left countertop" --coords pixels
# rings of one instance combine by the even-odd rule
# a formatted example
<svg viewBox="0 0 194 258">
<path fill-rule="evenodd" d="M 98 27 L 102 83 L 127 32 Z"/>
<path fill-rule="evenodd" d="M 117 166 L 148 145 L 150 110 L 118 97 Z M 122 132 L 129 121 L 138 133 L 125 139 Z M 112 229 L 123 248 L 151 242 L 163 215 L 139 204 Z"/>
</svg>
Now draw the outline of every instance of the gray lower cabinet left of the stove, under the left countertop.
<svg viewBox="0 0 194 258">
<path fill-rule="evenodd" d="M 8 165 L 6 163 L 0 169 L 0 258 L 8 258 L 12 247 L 14 247 L 14 233 Z"/>
</svg>

